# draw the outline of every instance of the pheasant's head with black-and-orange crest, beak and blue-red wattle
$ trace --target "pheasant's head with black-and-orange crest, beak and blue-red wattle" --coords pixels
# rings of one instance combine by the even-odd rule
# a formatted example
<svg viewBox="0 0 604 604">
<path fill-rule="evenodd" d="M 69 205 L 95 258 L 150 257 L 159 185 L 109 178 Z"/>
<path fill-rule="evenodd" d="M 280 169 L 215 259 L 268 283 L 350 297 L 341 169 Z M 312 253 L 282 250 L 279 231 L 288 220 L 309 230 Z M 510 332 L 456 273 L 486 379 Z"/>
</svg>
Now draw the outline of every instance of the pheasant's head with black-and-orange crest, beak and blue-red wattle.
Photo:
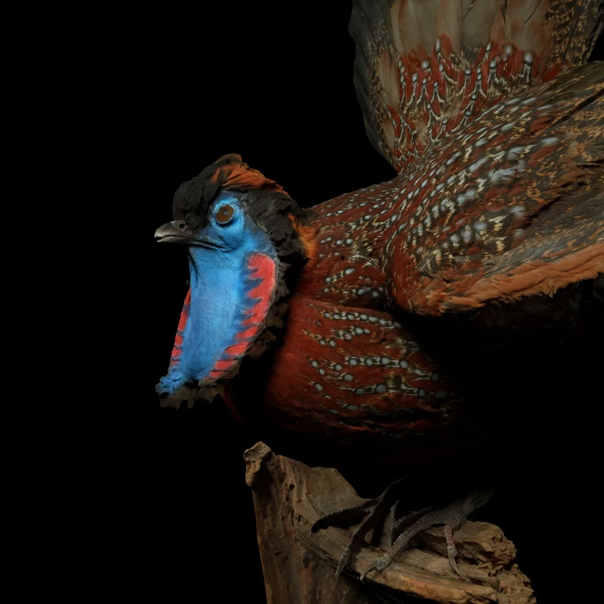
<svg viewBox="0 0 604 604">
<path fill-rule="evenodd" d="M 304 213 L 276 182 L 226 155 L 176 191 L 172 222 L 155 232 L 187 246 L 190 291 L 170 367 L 156 386 L 163 404 L 211 400 L 246 356 L 259 356 L 282 325 L 284 274 L 305 257 Z"/>
</svg>

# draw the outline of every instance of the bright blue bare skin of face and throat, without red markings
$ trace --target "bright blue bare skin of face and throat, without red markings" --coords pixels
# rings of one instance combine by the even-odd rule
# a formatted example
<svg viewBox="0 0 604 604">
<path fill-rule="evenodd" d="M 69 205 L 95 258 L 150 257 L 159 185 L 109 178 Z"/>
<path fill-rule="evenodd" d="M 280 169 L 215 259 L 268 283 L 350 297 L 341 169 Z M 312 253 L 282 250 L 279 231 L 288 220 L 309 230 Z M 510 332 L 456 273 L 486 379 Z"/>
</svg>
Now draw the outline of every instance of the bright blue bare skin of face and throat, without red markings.
<svg viewBox="0 0 604 604">
<path fill-rule="evenodd" d="M 225 204 L 234 208 L 226 223 L 216 220 Z M 243 314 L 255 304 L 248 297 L 257 281 L 249 278 L 248 256 L 266 254 L 277 262 L 268 234 L 243 210 L 239 199 L 222 191 L 208 210 L 209 223 L 196 236 L 217 248 L 188 247 L 191 305 L 185 327 L 181 362 L 169 368 L 156 387 L 158 394 L 174 394 L 185 382 L 207 377 L 226 347 L 235 343 Z"/>
</svg>

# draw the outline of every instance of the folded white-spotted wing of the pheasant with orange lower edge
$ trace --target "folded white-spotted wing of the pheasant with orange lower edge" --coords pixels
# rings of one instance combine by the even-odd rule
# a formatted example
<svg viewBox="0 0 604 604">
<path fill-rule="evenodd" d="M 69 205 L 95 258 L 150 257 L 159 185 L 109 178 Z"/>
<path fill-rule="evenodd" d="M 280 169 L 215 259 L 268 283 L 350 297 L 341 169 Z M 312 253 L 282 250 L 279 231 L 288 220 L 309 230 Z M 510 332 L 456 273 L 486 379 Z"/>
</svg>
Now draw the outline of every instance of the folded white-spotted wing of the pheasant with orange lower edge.
<svg viewBox="0 0 604 604">
<path fill-rule="evenodd" d="M 402 195 L 405 226 L 394 225 L 384 258 L 403 309 L 465 311 L 596 277 L 604 272 L 604 63 L 487 109 L 403 184 L 413 195 Z"/>
</svg>

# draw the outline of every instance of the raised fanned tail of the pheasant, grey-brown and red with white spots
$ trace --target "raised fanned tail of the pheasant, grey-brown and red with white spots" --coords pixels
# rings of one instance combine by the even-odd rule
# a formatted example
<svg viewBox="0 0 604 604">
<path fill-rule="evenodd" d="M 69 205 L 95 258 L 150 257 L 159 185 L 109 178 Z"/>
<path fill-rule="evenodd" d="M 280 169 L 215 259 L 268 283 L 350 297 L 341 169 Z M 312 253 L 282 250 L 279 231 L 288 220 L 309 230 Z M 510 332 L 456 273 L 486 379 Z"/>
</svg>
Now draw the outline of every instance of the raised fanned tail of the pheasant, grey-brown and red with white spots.
<svg viewBox="0 0 604 604">
<path fill-rule="evenodd" d="M 368 136 L 402 172 L 488 106 L 585 62 L 602 24 L 595 0 L 354 0 Z"/>
</svg>

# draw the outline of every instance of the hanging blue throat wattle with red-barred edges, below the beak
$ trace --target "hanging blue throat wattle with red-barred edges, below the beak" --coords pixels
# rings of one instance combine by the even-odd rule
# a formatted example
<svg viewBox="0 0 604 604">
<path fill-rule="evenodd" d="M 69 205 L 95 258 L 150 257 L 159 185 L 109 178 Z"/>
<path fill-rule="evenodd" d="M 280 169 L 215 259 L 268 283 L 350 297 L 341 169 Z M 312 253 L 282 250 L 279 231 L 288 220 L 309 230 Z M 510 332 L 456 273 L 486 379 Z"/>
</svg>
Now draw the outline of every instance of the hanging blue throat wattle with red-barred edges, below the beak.
<svg viewBox="0 0 604 604">
<path fill-rule="evenodd" d="M 181 315 L 184 329 L 177 332 L 168 374 L 156 387 L 160 395 L 170 396 L 187 382 L 219 379 L 221 371 L 239 364 L 261 329 L 266 312 L 260 316 L 259 309 L 271 307 L 278 258 L 265 231 L 249 218 L 245 222 L 246 236 L 236 249 L 188 248 L 190 304 Z M 263 278 L 267 273 L 272 275 Z"/>
</svg>

